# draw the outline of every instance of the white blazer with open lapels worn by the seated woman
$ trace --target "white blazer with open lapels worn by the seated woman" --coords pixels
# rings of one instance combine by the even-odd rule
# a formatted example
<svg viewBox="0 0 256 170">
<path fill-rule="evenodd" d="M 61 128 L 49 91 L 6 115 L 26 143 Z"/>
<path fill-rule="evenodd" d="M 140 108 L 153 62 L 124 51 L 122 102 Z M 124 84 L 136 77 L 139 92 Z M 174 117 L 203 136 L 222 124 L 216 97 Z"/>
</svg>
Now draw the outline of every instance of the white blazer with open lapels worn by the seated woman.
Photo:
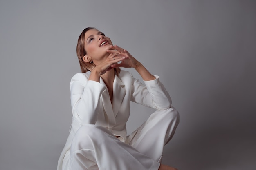
<svg viewBox="0 0 256 170">
<path fill-rule="evenodd" d="M 121 141 L 126 140 L 126 122 L 130 115 L 130 101 L 144 106 L 165 110 L 171 107 L 171 97 L 155 76 L 155 80 L 144 81 L 145 85 L 133 78 L 128 71 L 115 75 L 113 101 L 108 89 L 100 82 L 88 80 L 90 71 L 77 73 L 70 82 L 72 126 L 67 142 L 58 161 L 57 170 L 67 168 L 70 146 L 76 131 L 85 124 L 97 124 L 108 128 Z"/>
</svg>

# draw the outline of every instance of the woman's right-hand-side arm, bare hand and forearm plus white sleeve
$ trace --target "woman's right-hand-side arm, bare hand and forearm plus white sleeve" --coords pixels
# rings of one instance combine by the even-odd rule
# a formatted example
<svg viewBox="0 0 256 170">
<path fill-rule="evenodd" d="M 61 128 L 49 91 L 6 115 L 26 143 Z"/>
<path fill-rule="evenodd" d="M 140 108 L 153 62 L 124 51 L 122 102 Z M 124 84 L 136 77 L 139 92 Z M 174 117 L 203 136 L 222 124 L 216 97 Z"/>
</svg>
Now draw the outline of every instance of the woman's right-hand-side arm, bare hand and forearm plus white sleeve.
<svg viewBox="0 0 256 170">
<path fill-rule="evenodd" d="M 131 101 L 144 106 L 164 110 L 171 107 L 171 97 L 159 81 L 158 76 L 153 76 L 138 60 L 136 60 L 128 51 L 119 46 L 111 46 L 113 50 L 107 50 L 109 53 L 118 53 L 126 58 L 120 64 L 114 64 L 111 67 L 135 68 L 144 80 L 141 84 L 137 79 L 133 78 Z"/>
</svg>

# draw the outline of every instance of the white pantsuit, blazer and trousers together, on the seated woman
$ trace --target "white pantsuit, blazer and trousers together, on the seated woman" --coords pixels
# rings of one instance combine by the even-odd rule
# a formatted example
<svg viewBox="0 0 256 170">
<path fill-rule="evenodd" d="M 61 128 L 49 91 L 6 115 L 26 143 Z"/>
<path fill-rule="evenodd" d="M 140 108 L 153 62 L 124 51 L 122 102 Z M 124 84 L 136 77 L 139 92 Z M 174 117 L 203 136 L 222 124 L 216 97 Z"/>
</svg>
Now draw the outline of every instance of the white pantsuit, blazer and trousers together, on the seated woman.
<svg viewBox="0 0 256 170">
<path fill-rule="evenodd" d="M 111 104 L 103 80 L 90 81 L 89 76 L 90 71 L 71 79 L 72 126 L 57 170 L 157 170 L 179 123 L 159 77 L 144 81 L 145 86 L 121 71 L 115 75 Z M 127 136 L 130 101 L 156 111 Z"/>
</svg>

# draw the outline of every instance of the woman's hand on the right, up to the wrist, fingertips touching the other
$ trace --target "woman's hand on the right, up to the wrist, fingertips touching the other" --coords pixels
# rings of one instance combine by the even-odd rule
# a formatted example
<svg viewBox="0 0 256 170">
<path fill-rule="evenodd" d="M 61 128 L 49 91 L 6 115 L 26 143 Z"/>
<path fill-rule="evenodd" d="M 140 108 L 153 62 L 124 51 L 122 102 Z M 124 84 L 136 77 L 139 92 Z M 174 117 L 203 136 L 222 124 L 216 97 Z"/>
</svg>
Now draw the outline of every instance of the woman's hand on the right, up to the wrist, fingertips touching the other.
<svg viewBox="0 0 256 170">
<path fill-rule="evenodd" d="M 110 49 L 108 49 L 107 52 L 121 54 L 124 57 L 126 57 L 124 60 L 121 61 L 121 63 L 113 64 L 111 66 L 112 68 L 124 67 L 124 68 L 135 68 L 136 69 L 141 65 L 141 63 L 138 62 L 138 60 L 136 60 L 134 57 L 132 57 L 132 55 L 130 55 L 130 53 L 127 50 L 122 49 L 121 47 L 119 47 L 117 45 L 110 46 Z"/>
</svg>

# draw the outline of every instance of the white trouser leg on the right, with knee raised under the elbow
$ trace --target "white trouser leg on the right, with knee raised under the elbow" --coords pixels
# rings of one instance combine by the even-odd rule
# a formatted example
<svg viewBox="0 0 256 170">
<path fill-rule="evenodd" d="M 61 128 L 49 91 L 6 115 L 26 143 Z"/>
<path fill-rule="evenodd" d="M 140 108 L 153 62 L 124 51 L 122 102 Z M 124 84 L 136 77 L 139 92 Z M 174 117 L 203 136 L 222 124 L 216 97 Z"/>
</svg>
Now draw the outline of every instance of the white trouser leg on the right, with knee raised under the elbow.
<svg viewBox="0 0 256 170">
<path fill-rule="evenodd" d="M 127 138 L 126 143 L 140 153 L 161 162 L 163 147 L 173 137 L 179 124 L 179 113 L 174 107 L 157 110 Z"/>
</svg>

